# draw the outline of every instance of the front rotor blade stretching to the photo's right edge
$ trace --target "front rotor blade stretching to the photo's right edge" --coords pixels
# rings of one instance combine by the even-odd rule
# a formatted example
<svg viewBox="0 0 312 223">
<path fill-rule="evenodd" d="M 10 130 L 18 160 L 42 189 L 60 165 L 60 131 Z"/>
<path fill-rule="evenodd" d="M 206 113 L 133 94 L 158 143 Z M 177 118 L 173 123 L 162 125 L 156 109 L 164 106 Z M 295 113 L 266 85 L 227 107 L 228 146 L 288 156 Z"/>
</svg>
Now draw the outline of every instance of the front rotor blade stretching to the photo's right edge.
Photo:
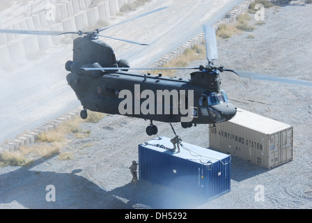
<svg viewBox="0 0 312 223">
<path fill-rule="evenodd" d="M 224 70 L 229 72 L 234 72 L 236 75 L 240 77 L 252 78 L 252 79 L 262 79 L 270 82 L 280 82 L 286 84 L 296 84 L 300 86 L 312 86 L 312 82 L 301 80 L 301 79 L 291 79 L 287 77 L 276 77 L 271 75 L 263 75 L 255 72 L 247 72 L 241 70 Z"/>
</svg>

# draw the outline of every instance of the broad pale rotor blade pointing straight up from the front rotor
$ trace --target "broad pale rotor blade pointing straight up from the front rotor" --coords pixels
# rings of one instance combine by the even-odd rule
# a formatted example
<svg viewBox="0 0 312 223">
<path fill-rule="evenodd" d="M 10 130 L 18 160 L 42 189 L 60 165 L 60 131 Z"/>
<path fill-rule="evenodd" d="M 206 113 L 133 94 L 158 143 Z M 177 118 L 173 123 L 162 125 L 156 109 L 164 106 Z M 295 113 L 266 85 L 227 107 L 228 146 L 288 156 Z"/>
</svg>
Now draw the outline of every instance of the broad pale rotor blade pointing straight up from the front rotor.
<svg viewBox="0 0 312 223">
<path fill-rule="evenodd" d="M 212 26 L 203 25 L 205 33 L 205 48 L 208 61 L 218 59 L 216 30 Z"/>
</svg>

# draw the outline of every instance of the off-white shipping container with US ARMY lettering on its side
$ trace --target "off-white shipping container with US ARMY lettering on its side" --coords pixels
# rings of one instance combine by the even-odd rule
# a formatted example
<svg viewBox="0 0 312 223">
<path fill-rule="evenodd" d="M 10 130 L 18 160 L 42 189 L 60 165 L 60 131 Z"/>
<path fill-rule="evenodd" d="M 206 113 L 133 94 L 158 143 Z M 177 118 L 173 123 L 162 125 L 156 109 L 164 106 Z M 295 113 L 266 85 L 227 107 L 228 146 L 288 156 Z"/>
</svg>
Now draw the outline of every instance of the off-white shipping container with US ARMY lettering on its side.
<svg viewBox="0 0 312 223">
<path fill-rule="evenodd" d="M 271 169 L 292 160 L 291 125 L 237 108 L 230 121 L 210 125 L 209 147 Z"/>
</svg>

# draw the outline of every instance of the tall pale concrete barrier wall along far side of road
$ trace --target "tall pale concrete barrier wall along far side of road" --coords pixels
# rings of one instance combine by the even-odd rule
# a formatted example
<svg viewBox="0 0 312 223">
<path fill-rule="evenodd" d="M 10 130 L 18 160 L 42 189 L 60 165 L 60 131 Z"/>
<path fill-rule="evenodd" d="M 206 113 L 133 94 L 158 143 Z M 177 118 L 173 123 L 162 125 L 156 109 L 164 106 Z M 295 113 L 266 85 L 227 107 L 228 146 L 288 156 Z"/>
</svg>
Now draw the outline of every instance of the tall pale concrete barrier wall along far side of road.
<svg viewBox="0 0 312 223">
<path fill-rule="evenodd" d="M 51 9 L 33 13 L 24 20 L 6 26 L 5 29 L 79 31 L 88 26 L 95 26 L 99 20 L 108 20 L 110 16 L 119 12 L 123 4 L 133 1 L 104 0 L 98 6 L 92 5 L 91 0 L 64 1 L 57 3 Z M 17 61 L 25 60 L 26 56 L 59 45 L 63 38 L 68 37 L 0 33 L 0 70 Z"/>
</svg>

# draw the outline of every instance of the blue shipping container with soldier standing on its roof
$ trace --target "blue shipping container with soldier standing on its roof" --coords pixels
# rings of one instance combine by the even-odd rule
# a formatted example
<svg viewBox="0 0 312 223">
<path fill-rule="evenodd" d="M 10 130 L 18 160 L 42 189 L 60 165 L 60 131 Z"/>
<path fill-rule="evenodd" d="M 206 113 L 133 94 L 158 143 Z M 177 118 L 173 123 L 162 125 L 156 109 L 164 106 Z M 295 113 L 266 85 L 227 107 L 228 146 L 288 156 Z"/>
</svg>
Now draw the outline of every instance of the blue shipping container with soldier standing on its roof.
<svg viewBox="0 0 312 223">
<path fill-rule="evenodd" d="M 231 190 L 231 155 L 167 137 L 139 145 L 139 178 L 211 200 Z"/>
</svg>

